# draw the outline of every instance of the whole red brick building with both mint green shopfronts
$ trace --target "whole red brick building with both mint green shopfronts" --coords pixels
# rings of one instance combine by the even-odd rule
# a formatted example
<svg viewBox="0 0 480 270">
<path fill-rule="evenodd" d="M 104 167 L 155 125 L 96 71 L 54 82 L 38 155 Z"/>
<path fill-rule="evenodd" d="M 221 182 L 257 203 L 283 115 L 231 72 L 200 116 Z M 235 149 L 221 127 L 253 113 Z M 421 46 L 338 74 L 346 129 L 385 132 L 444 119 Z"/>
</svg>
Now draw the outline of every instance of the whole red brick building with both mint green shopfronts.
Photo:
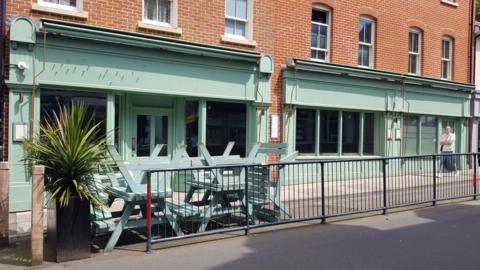
<svg viewBox="0 0 480 270">
<path fill-rule="evenodd" d="M 126 159 L 230 140 L 239 155 L 259 141 L 301 158 L 435 153 L 446 125 L 468 150 L 474 1 L 112 3 L 6 1 L 12 211 L 30 204 L 20 142 L 72 99 Z"/>
</svg>

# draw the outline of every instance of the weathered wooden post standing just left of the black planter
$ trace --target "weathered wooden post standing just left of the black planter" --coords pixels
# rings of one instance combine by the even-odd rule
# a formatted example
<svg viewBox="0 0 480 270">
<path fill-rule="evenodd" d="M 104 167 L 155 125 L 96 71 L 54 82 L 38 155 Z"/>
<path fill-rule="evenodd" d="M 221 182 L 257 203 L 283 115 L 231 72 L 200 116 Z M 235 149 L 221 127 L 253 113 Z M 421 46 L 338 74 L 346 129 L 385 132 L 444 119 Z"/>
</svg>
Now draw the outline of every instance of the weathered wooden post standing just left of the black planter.
<svg viewBox="0 0 480 270">
<path fill-rule="evenodd" d="M 32 265 L 43 262 L 43 193 L 45 167 L 32 166 L 32 218 L 31 218 L 31 253 Z"/>
</svg>

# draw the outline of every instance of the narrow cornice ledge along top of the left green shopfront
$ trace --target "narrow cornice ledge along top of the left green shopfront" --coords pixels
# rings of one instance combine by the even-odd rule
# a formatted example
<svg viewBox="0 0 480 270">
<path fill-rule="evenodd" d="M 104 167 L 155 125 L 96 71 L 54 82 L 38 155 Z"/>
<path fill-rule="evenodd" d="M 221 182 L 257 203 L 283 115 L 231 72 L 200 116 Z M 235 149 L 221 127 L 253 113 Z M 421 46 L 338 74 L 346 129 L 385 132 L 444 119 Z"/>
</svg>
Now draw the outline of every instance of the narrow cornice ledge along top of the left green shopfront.
<svg viewBox="0 0 480 270">
<path fill-rule="evenodd" d="M 261 58 L 261 54 L 258 52 L 205 45 L 143 33 L 51 19 L 40 19 L 40 22 L 41 28 L 39 31 L 75 38 L 249 62 L 259 62 Z"/>
</svg>

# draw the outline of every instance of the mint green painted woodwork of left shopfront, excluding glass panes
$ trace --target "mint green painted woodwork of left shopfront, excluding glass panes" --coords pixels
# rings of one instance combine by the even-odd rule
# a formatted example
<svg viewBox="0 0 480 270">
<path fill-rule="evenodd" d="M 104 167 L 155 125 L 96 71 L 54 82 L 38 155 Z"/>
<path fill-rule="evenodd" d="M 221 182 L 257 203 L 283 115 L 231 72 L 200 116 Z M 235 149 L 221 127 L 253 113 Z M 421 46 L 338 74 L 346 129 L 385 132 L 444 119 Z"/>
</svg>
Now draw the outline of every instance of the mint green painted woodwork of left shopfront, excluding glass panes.
<svg viewBox="0 0 480 270">
<path fill-rule="evenodd" d="M 199 104 L 200 143 L 206 140 L 208 101 L 246 105 L 247 150 L 268 139 L 269 55 L 26 17 L 12 22 L 10 35 L 10 127 L 22 122 L 38 128 L 42 91 L 85 91 L 106 97 L 108 140 L 114 142 L 117 127 L 125 159 L 136 158 L 132 139 L 137 114 L 168 117 L 168 155 L 185 144 L 188 101 Z M 28 69 L 17 68 L 19 62 Z M 30 209 L 31 179 L 22 162 L 21 142 L 13 141 L 12 132 L 10 128 L 8 160 L 10 211 L 15 212 Z"/>
</svg>

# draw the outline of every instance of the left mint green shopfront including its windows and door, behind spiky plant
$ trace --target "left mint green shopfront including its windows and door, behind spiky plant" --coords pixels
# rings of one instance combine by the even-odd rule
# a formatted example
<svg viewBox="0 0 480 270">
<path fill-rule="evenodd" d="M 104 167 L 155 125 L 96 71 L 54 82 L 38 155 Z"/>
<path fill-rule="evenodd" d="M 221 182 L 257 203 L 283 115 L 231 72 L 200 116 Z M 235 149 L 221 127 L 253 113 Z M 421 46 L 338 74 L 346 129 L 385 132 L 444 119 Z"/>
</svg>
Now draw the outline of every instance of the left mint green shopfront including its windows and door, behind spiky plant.
<svg viewBox="0 0 480 270">
<path fill-rule="evenodd" d="M 268 140 L 269 55 L 28 17 L 12 21 L 10 42 L 10 212 L 31 207 L 21 141 L 72 100 L 89 105 L 127 160 L 156 144 L 168 158 L 178 145 L 196 156 L 198 143 L 218 154 L 233 140 L 245 155 Z"/>
</svg>

